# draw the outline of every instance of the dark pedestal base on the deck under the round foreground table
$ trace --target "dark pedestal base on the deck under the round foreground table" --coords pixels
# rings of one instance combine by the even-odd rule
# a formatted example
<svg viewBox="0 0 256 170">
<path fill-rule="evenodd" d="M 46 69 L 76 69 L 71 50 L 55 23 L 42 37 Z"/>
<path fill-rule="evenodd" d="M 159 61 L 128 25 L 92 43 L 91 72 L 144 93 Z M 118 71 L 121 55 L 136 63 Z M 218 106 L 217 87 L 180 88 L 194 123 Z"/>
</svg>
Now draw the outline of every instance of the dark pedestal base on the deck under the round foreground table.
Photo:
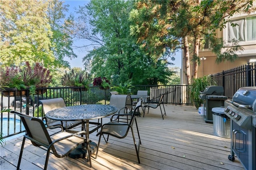
<svg viewBox="0 0 256 170">
<path fill-rule="evenodd" d="M 80 144 L 76 149 L 72 150 L 68 156 L 70 158 L 85 158 L 87 157 L 87 144 Z M 95 142 L 90 142 L 90 152 L 93 154 L 97 151 L 97 144 Z"/>
</svg>

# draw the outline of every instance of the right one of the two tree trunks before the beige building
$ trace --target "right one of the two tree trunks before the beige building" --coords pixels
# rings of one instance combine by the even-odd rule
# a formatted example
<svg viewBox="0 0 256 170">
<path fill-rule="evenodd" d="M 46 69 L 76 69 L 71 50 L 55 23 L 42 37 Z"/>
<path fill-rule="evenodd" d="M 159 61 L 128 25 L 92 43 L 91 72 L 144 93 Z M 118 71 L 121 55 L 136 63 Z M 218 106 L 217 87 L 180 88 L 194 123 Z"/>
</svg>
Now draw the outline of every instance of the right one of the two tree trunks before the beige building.
<svg viewBox="0 0 256 170">
<path fill-rule="evenodd" d="M 197 70 L 198 70 L 198 55 L 199 55 L 199 42 L 198 38 L 194 41 L 194 49 L 193 49 L 193 66 L 192 66 L 192 76 L 191 79 L 197 78 Z"/>
</svg>

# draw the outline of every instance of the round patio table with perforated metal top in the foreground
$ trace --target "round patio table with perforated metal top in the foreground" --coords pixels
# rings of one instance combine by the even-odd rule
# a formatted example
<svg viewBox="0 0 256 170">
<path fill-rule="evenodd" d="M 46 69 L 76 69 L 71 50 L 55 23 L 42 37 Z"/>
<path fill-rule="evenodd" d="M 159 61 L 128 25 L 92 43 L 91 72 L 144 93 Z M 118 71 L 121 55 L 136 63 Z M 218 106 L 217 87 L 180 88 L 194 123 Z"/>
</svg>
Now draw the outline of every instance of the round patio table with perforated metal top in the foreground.
<svg viewBox="0 0 256 170">
<path fill-rule="evenodd" d="M 89 120 L 100 119 L 112 115 L 117 112 L 117 108 L 110 105 L 101 104 L 88 104 L 88 105 L 77 105 L 68 106 L 58 109 L 48 111 L 46 117 L 48 119 L 58 120 L 58 121 L 82 121 L 82 130 L 86 131 L 86 144 L 89 143 Z M 101 127 L 101 125 L 100 125 Z M 96 127 L 99 128 L 99 127 Z M 97 149 L 97 144 L 90 142 L 90 145 L 83 144 L 78 146 L 77 149 L 70 152 L 69 156 L 71 158 L 82 158 L 87 156 L 87 161 L 90 162 L 90 167 L 92 166 L 90 155 Z M 88 152 L 90 150 L 90 152 Z"/>
</svg>

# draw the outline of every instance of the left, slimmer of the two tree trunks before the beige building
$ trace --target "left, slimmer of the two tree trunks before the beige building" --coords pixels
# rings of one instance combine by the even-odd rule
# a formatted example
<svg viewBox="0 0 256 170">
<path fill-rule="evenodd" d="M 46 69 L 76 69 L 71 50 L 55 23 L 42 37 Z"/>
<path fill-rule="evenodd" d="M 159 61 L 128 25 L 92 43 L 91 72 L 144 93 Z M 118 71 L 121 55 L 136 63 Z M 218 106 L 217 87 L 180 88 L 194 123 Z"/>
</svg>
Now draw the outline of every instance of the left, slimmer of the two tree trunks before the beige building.
<svg viewBox="0 0 256 170">
<path fill-rule="evenodd" d="M 185 83 L 190 84 L 190 63 L 189 63 L 189 51 L 188 51 L 188 37 L 183 38 L 184 41 L 184 73 L 185 73 Z"/>
</svg>

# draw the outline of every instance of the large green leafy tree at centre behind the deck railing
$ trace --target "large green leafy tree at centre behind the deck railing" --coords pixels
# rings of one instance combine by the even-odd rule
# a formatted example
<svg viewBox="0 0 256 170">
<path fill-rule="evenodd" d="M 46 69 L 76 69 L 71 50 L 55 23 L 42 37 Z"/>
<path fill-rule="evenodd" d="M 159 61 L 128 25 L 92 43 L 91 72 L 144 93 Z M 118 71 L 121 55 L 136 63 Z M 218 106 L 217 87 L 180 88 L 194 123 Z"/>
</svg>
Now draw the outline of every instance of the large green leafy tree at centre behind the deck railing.
<svg viewBox="0 0 256 170">
<path fill-rule="evenodd" d="M 153 53 L 145 52 L 144 47 L 136 44 L 135 37 L 130 35 L 128 17 L 133 3 L 93 0 L 80 7 L 80 20 L 76 25 L 79 31 L 76 35 L 90 40 L 94 45 L 83 62 L 87 68 L 92 66 L 91 72 L 95 76 L 112 78 L 116 85 L 131 80 L 133 84 L 166 83 L 171 74 L 167 67 L 169 63 L 165 58 L 155 59 Z M 88 24 L 91 26 L 82 26 Z"/>
</svg>

